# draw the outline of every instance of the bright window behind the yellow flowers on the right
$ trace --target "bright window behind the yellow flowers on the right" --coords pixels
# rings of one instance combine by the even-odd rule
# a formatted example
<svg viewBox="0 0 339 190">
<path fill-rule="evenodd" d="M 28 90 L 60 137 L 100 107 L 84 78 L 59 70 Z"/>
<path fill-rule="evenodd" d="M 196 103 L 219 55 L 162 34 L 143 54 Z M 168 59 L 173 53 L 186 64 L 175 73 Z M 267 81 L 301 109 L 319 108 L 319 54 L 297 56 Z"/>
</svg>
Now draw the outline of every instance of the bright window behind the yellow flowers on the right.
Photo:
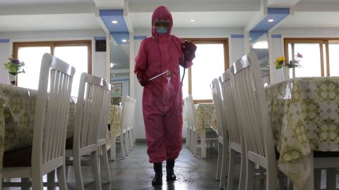
<svg viewBox="0 0 339 190">
<path fill-rule="evenodd" d="M 338 39 L 284 39 L 285 57 L 290 61 L 302 53 L 301 68 L 294 68 L 293 77 L 339 76 Z"/>
</svg>

